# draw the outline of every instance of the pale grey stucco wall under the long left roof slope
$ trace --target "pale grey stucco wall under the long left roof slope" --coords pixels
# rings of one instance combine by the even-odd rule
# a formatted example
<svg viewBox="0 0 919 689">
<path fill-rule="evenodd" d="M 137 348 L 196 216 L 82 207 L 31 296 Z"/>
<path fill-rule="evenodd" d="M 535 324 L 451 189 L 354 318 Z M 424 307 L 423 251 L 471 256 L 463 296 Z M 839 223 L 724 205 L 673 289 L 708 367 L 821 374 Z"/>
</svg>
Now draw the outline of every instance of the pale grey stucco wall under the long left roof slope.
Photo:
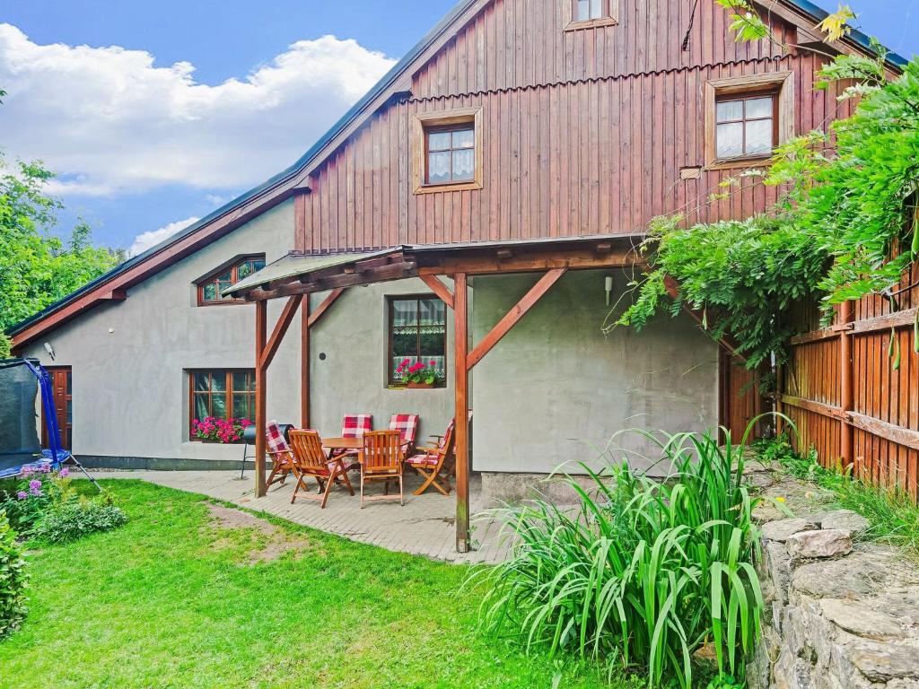
<svg viewBox="0 0 919 689">
<path fill-rule="evenodd" d="M 74 454 L 107 457 L 238 459 L 237 446 L 188 442 L 189 368 L 252 368 L 255 307 L 199 308 L 194 281 L 238 254 L 273 261 L 293 246 L 293 202 L 255 218 L 196 254 L 64 324 L 23 353 L 73 367 Z M 273 322 L 283 308 L 269 306 Z M 111 332 L 109 332 L 111 331 Z M 53 345 L 51 362 L 42 344 Z M 268 375 L 268 415 L 299 420 L 299 319 Z"/>
</svg>

